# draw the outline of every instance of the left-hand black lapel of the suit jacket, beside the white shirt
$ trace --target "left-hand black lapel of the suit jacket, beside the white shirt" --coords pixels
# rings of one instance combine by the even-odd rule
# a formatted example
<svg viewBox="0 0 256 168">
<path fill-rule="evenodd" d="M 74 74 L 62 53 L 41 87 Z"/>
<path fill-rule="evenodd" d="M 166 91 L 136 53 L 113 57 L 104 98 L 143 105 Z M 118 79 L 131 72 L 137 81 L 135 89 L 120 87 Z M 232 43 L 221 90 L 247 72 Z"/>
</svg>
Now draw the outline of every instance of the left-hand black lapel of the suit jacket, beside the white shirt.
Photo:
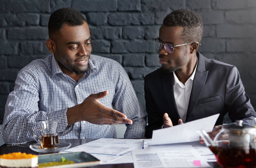
<svg viewBox="0 0 256 168">
<path fill-rule="evenodd" d="M 168 113 L 169 116 L 173 115 L 173 117 L 175 118 L 175 121 L 178 121 L 178 119 L 180 118 L 180 115 L 178 113 L 175 98 L 174 98 L 174 92 L 173 92 L 174 76 L 173 76 L 173 73 L 172 72 L 164 73 L 162 79 L 163 79 L 164 96 L 166 98 L 166 101 L 168 102 L 170 109 L 171 109 L 171 113 L 168 113 L 168 112 L 166 112 L 166 113 Z"/>
</svg>

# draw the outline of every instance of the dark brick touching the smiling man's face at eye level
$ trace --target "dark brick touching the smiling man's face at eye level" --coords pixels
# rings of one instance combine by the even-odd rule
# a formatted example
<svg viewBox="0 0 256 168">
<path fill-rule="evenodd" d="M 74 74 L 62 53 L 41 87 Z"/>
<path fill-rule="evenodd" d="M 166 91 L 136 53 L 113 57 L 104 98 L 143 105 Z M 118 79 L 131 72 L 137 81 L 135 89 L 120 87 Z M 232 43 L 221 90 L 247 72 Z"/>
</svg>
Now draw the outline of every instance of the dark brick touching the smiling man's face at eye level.
<svg viewBox="0 0 256 168">
<path fill-rule="evenodd" d="M 109 41 L 92 39 L 92 52 L 109 53 L 109 51 L 110 51 Z"/>
</svg>

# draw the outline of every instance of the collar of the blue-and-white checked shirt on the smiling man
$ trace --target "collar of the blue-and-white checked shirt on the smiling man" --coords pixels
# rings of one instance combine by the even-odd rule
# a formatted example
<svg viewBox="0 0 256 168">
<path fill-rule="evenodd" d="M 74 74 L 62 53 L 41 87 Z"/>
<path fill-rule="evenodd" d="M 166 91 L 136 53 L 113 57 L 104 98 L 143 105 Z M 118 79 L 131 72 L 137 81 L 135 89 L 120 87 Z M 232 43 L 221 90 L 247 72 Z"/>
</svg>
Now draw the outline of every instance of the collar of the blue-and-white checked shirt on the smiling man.
<svg viewBox="0 0 256 168">
<path fill-rule="evenodd" d="M 63 71 L 61 70 L 57 60 L 55 59 L 54 55 L 52 54 L 52 74 L 51 74 L 51 78 L 53 78 L 54 75 L 58 74 L 58 73 L 63 73 Z M 89 63 L 88 63 L 88 69 L 87 69 L 87 72 L 91 72 L 92 70 L 96 70 L 97 71 L 97 68 L 96 66 L 94 65 L 91 57 L 89 59 Z M 85 73 L 86 74 L 86 73 Z M 87 74 L 88 76 L 89 74 Z"/>
</svg>

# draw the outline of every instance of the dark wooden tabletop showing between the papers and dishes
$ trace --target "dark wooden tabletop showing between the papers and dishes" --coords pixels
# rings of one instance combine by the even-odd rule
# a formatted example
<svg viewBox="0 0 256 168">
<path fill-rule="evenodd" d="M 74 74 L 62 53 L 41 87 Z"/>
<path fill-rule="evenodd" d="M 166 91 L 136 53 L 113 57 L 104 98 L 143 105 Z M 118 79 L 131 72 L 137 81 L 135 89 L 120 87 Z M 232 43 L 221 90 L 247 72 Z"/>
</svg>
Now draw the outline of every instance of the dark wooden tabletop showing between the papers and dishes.
<svg viewBox="0 0 256 168">
<path fill-rule="evenodd" d="M 60 139 L 60 142 L 69 142 L 71 144 L 70 148 L 73 148 L 75 146 L 85 144 L 91 141 L 94 141 L 96 139 Z M 31 153 L 35 155 L 40 155 L 43 153 L 38 153 L 29 148 L 31 144 L 35 144 L 36 141 L 31 141 L 26 144 L 22 145 L 7 145 L 3 144 L 0 146 L 0 155 L 8 154 L 12 152 L 25 152 L 25 153 Z M 209 165 L 211 165 L 214 168 L 222 168 L 217 162 L 208 162 Z M 113 165 L 97 165 L 93 166 L 93 168 L 133 168 L 132 163 L 126 163 L 126 164 L 113 164 Z"/>
</svg>

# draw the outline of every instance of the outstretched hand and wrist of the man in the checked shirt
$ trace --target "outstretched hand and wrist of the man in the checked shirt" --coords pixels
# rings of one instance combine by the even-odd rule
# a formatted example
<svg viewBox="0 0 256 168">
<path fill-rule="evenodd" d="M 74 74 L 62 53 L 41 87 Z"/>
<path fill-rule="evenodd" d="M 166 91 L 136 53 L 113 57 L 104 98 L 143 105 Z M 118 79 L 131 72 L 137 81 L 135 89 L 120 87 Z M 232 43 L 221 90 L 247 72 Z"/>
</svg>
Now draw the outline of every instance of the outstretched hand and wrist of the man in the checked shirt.
<svg viewBox="0 0 256 168">
<path fill-rule="evenodd" d="M 67 110 L 68 126 L 78 121 L 88 121 L 93 124 L 119 124 L 132 121 L 125 114 L 114 109 L 108 108 L 99 102 L 100 98 L 105 97 L 108 91 L 91 94 L 81 103 Z"/>
</svg>

